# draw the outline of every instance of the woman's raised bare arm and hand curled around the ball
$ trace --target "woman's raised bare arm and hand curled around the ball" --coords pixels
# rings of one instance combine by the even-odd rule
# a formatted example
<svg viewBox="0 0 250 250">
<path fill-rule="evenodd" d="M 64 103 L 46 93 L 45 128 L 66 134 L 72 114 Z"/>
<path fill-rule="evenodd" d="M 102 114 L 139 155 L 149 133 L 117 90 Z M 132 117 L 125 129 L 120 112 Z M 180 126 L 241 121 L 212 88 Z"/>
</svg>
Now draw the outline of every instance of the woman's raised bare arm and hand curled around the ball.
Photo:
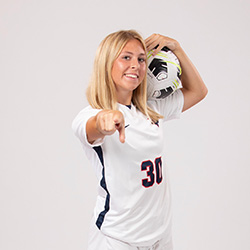
<svg viewBox="0 0 250 250">
<path fill-rule="evenodd" d="M 181 82 L 183 88 L 181 90 L 184 95 L 182 111 L 191 108 L 207 95 L 207 87 L 199 72 L 176 40 L 153 34 L 145 40 L 145 43 L 148 50 L 152 50 L 159 45 L 153 55 L 156 55 L 164 46 L 167 46 L 179 59 L 182 68 Z"/>
</svg>

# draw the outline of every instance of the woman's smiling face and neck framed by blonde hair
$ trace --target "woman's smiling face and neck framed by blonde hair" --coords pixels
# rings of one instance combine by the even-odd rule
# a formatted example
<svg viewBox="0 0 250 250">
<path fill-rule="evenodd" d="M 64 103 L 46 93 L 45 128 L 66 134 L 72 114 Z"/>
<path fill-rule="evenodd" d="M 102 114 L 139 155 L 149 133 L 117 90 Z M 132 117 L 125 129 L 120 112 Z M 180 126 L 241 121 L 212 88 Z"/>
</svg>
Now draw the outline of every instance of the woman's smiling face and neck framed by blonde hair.
<svg viewBox="0 0 250 250">
<path fill-rule="evenodd" d="M 111 70 L 119 103 L 131 104 L 133 90 L 140 85 L 145 74 L 146 52 L 140 41 L 130 40 L 114 61 Z"/>
</svg>

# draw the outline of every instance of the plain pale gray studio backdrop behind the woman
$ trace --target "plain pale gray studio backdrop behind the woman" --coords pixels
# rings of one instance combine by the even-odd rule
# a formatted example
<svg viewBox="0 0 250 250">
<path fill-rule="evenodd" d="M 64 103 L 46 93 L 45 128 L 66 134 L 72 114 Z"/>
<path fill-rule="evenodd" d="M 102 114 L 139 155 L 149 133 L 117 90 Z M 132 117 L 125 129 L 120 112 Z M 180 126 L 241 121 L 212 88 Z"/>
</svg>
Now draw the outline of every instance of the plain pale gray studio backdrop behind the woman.
<svg viewBox="0 0 250 250">
<path fill-rule="evenodd" d="M 0 1 L 0 249 L 84 250 L 96 179 L 71 122 L 100 41 L 177 39 L 209 95 L 166 126 L 176 250 L 250 249 L 249 1 Z"/>
</svg>

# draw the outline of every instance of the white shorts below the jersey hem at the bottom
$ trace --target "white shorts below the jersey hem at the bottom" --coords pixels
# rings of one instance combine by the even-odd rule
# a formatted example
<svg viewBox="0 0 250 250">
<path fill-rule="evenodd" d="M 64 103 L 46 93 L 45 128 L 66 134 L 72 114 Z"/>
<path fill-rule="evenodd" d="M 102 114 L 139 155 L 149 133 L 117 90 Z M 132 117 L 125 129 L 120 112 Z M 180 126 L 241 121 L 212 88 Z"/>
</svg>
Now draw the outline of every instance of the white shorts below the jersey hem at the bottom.
<svg viewBox="0 0 250 250">
<path fill-rule="evenodd" d="M 172 240 L 161 239 L 152 246 L 137 247 L 104 235 L 91 223 L 87 250 L 173 250 Z"/>
</svg>

